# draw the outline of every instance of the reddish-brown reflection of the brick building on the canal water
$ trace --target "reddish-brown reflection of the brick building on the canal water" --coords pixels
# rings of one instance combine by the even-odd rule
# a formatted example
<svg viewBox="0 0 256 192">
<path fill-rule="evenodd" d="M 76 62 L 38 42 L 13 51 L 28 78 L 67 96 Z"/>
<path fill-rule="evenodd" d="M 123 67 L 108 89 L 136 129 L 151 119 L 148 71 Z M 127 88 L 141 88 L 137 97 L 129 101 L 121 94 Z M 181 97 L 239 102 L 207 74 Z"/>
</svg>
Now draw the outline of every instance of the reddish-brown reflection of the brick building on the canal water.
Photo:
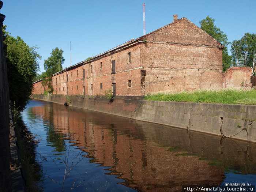
<svg viewBox="0 0 256 192">
<path fill-rule="evenodd" d="M 251 159 L 255 155 L 253 144 L 244 152 L 246 146 L 242 145 L 245 142 L 239 141 L 238 150 L 247 155 L 238 156 L 230 152 L 236 153 L 236 150 L 230 150 L 231 146 L 234 149 L 232 141 L 233 144 L 224 140 L 222 145 L 216 136 L 195 132 L 187 134 L 182 129 L 52 105 L 56 132 L 71 136 L 73 142 L 88 153 L 87 157 L 92 158 L 91 162 L 111 167 L 110 174 L 118 175 L 126 181 L 125 185 L 140 191 L 176 191 L 182 185 L 221 184 L 223 168 L 177 151 L 219 159 L 223 165 L 231 162 L 231 167 L 241 166 L 241 169 L 255 173 L 256 163 Z M 47 112 L 33 110 L 36 113 Z"/>
</svg>

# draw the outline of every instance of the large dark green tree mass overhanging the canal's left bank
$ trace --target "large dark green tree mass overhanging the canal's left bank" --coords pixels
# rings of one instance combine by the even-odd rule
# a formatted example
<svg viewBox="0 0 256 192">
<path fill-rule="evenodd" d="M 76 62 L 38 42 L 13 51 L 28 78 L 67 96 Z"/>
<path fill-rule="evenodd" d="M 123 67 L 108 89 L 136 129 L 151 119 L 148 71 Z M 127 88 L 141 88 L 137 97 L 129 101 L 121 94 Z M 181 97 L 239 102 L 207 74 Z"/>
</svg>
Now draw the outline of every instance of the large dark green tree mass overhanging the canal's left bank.
<svg viewBox="0 0 256 192">
<path fill-rule="evenodd" d="M 33 80 L 39 69 L 38 59 L 41 56 L 38 48 L 29 47 L 19 36 L 14 38 L 6 32 L 6 25 L 2 28 L 7 44 L 7 73 L 10 89 L 10 99 L 19 110 L 23 110 L 30 99 Z"/>
</svg>

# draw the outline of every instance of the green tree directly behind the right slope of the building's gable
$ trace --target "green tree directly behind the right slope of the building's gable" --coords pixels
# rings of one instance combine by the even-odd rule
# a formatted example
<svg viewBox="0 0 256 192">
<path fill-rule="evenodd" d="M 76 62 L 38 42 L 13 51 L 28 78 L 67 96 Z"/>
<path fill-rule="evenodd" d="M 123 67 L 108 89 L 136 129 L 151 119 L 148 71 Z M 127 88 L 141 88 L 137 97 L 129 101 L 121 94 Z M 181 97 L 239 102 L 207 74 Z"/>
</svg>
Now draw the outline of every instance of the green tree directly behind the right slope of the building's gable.
<svg viewBox="0 0 256 192">
<path fill-rule="evenodd" d="M 230 42 L 228 42 L 227 35 L 214 25 L 214 21 L 215 19 L 207 16 L 206 19 L 201 20 L 199 23 L 202 30 L 211 35 L 224 46 L 222 51 L 222 65 L 223 72 L 225 72 L 232 64 L 231 56 L 227 52 L 227 45 L 229 45 Z"/>
</svg>

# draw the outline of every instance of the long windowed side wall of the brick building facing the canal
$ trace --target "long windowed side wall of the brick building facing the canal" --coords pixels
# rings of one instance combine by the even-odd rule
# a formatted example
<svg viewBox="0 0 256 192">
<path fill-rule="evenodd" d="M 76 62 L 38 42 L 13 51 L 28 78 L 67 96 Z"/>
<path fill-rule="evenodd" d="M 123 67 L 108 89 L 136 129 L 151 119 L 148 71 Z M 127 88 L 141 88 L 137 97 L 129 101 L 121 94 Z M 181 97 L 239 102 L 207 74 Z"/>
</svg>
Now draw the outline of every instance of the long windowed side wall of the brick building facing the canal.
<svg viewBox="0 0 256 192">
<path fill-rule="evenodd" d="M 130 62 L 128 62 L 128 53 L 131 53 Z M 111 74 L 112 60 L 115 60 L 116 63 L 115 74 Z M 102 69 L 100 67 L 101 63 Z M 140 44 L 106 55 L 105 57 L 96 58 L 90 63 L 85 63 L 78 67 L 70 68 L 68 71 L 53 75 L 53 94 L 67 94 L 68 88 L 68 94 L 83 95 L 83 86 L 85 86 L 85 95 L 105 95 L 106 90 L 112 89 L 112 83 L 116 83 L 117 95 L 141 95 L 139 67 Z M 132 86 L 129 88 L 128 80 L 131 80 L 132 83 Z M 100 87 L 101 83 L 102 90 Z M 93 85 L 93 90 L 91 90 L 91 84 Z"/>
</svg>

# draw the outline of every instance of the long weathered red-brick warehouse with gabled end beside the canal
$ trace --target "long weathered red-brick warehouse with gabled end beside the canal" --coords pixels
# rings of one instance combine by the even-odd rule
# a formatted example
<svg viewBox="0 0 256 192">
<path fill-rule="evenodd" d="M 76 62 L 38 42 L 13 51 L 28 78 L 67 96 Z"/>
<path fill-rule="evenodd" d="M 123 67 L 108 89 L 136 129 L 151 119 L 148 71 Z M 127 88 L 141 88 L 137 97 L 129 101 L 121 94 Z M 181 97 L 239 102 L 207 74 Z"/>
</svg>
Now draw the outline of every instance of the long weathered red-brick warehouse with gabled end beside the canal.
<svg viewBox="0 0 256 192">
<path fill-rule="evenodd" d="M 221 89 L 223 46 L 187 18 L 63 69 L 53 94 L 145 95 Z M 37 82 L 39 83 L 39 82 Z M 35 84 L 37 84 L 35 83 Z M 35 86 L 34 93 L 39 93 Z M 42 91 L 41 91 L 42 92 Z"/>
</svg>

